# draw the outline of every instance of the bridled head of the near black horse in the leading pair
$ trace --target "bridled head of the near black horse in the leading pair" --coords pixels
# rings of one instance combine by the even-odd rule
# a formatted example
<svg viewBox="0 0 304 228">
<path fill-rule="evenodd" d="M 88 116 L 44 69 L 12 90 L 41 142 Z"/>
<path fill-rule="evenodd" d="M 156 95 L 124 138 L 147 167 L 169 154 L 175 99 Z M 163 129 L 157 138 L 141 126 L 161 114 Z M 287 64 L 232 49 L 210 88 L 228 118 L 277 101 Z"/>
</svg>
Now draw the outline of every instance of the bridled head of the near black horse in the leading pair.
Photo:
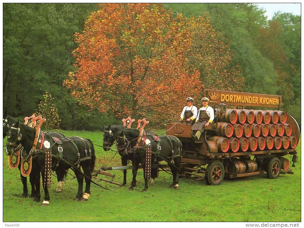
<svg viewBox="0 0 304 228">
<path fill-rule="evenodd" d="M 19 125 L 19 121 L 17 123 L 13 123 L 7 129 L 7 142 L 5 152 L 7 155 L 11 155 L 13 151 L 21 144 L 22 133 Z"/>
</svg>

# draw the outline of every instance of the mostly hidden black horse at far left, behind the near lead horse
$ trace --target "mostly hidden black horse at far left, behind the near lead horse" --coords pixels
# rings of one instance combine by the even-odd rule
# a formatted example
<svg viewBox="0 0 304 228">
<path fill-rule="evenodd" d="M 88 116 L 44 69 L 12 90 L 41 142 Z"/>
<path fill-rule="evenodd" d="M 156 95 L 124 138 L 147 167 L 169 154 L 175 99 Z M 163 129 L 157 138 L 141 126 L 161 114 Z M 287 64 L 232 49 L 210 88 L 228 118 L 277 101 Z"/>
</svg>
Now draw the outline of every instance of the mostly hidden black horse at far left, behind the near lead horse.
<svg viewBox="0 0 304 228">
<path fill-rule="evenodd" d="M 7 132 L 9 131 L 9 129 L 11 127 L 14 127 L 15 123 L 17 122 L 17 120 L 15 118 L 13 118 L 12 116 L 9 116 L 9 115 L 4 115 L 3 116 L 3 138 L 5 138 L 5 136 L 7 135 Z M 60 133 L 60 132 L 50 132 L 50 135 L 53 136 L 53 137 L 58 137 L 58 138 L 65 138 L 66 136 L 63 134 L 63 133 Z M 18 165 L 18 169 L 20 171 L 20 178 L 21 178 L 21 182 L 22 182 L 22 186 L 23 186 L 23 193 L 21 195 L 21 197 L 27 197 L 27 194 L 28 194 L 28 189 L 27 189 L 27 177 L 25 176 L 22 176 L 21 174 L 21 156 L 19 156 L 19 165 Z M 36 166 L 32 166 L 32 171 L 29 175 L 30 177 L 30 184 L 31 184 L 31 195 L 30 197 L 33 197 L 35 199 L 35 201 L 40 201 L 40 196 L 39 196 L 39 199 L 36 197 L 37 193 L 36 193 L 36 187 L 35 187 L 35 181 L 34 178 L 36 177 L 37 178 L 37 175 L 33 175 L 33 173 L 35 172 L 35 168 Z M 40 172 L 38 171 L 38 174 L 39 174 L 39 181 L 40 181 Z M 57 187 L 56 187 L 56 192 L 61 192 L 62 190 L 62 179 L 59 179 L 57 177 L 57 181 L 58 181 L 58 184 L 57 184 Z"/>
</svg>

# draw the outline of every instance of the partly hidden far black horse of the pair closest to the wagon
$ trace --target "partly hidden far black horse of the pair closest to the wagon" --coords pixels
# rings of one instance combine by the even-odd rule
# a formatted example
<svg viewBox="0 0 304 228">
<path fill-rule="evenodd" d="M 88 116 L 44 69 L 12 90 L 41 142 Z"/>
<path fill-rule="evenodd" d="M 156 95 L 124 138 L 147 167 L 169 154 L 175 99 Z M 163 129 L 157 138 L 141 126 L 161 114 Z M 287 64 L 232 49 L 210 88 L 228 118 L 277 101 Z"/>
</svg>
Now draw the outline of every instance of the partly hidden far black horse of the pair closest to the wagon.
<svg viewBox="0 0 304 228">
<path fill-rule="evenodd" d="M 110 150 L 111 146 L 113 145 L 113 143 L 115 142 L 116 138 L 117 138 L 117 133 L 119 131 L 123 131 L 126 129 L 135 129 L 135 128 L 126 128 L 125 126 L 122 125 L 109 125 L 105 127 L 105 130 L 103 132 L 103 149 L 104 151 L 108 151 Z M 128 164 L 128 160 L 130 160 L 133 164 L 133 160 L 134 160 L 134 156 L 133 154 L 126 154 L 123 151 L 118 151 L 120 157 L 121 157 L 121 165 L 122 166 L 126 166 Z M 134 173 L 134 170 L 132 170 L 132 173 Z M 121 184 L 121 186 L 125 186 L 127 184 L 127 170 L 123 170 L 123 174 L 124 174 L 124 180 Z M 151 173 L 151 181 L 150 183 L 153 184 L 155 178 L 158 175 L 158 170 L 156 169 L 152 169 L 152 173 Z"/>
</svg>

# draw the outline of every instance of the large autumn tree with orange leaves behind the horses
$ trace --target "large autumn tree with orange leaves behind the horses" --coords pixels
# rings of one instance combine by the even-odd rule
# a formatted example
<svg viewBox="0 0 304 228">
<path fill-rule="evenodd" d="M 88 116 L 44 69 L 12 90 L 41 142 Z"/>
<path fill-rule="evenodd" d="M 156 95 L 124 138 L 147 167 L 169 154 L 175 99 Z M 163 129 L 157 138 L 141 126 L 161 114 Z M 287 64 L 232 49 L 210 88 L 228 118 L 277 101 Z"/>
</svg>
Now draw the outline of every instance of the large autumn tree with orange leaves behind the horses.
<svg viewBox="0 0 304 228">
<path fill-rule="evenodd" d="M 162 4 L 101 4 L 75 41 L 75 71 L 64 85 L 80 103 L 118 117 L 172 118 L 215 80 L 223 89 L 227 79 L 242 80 L 208 20 L 173 17 Z"/>
</svg>

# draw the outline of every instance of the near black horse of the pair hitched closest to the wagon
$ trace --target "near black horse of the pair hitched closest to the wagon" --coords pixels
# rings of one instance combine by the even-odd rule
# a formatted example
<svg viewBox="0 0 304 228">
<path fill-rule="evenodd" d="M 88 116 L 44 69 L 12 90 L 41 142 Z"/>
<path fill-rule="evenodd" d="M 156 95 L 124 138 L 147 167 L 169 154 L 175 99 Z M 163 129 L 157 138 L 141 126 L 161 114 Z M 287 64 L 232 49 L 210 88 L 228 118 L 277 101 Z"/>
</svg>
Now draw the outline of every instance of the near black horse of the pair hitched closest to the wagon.
<svg viewBox="0 0 304 228">
<path fill-rule="evenodd" d="M 139 163 L 144 166 L 144 179 L 145 179 L 145 187 L 142 190 L 142 192 L 147 191 L 148 189 L 148 180 L 145 177 L 145 158 L 146 158 L 146 149 L 145 147 L 142 148 L 136 148 L 136 142 L 139 137 L 140 131 L 138 129 L 126 129 L 123 131 L 119 131 L 117 133 L 116 141 L 118 144 L 118 150 L 121 154 L 129 153 L 133 155 L 133 180 L 131 183 L 131 186 L 129 187 L 129 190 L 132 191 L 133 188 L 136 186 L 136 175 L 138 171 Z M 159 144 L 154 141 L 154 138 L 152 136 L 147 135 L 146 136 L 152 146 L 152 158 L 151 158 L 151 166 L 154 164 L 158 164 L 159 161 L 167 161 L 172 175 L 173 175 L 173 183 L 170 187 L 174 187 L 175 189 L 179 188 L 179 170 L 181 167 L 181 153 L 182 153 L 182 143 L 181 141 L 175 137 L 175 136 L 162 136 L 160 137 Z M 149 144 L 149 143 L 148 143 Z M 160 147 L 159 147 L 160 146 Z M 174 152 L 173 152 L 174 151 Z M 156 156 L 157 153 L 159 153 L 158 156 Z M 176 169 L 173 166 L 177 167 Z M 152 172 L 153 173 L 153 172 Z"/>
</svg>

